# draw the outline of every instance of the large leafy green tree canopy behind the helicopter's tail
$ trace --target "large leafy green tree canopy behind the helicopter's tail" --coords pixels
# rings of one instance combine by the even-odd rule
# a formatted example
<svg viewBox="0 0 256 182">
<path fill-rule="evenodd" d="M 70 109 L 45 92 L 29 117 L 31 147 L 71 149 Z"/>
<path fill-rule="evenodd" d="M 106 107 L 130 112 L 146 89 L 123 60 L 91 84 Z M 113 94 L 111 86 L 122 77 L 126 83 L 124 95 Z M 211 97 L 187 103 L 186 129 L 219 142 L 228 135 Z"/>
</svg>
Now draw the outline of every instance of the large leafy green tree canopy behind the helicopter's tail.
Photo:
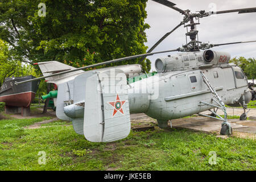
<svg viewBox="0 0 256 182">
<path fill-rule="evenodd" d="M 0 1 L 0 38 L 14 59 L 81 67 L 146 52 L 147 0 Z M 40 2 L 46 16 L 38 14 Z M 142 66 L 149 71 L 150 60 Z"/>
</svg>

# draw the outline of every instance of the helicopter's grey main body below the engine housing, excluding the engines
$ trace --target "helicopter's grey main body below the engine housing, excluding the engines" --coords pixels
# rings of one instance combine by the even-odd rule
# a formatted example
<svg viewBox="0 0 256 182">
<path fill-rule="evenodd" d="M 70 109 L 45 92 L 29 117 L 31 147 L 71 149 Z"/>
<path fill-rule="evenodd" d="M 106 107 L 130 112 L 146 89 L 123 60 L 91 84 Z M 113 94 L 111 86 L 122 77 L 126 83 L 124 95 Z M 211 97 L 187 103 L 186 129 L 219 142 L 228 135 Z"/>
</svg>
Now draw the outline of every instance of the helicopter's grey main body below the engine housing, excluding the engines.
<svg viewBox="0 0 256 182">
<path fill-rule="evenodd" d="M 200 101 L 214 104 L 213 94 L 204 83 L 201 72 L 208 77 L 226 105 L 236 104 L 247 90 L 245 75 L 240 67 L 233 64 L 159 73 L 147 78 L 147 84 L 142 84 L 144 80 L 141 80 L 131 84 L 132 88 L 128 88 L 130 113 L 143 112 L 155 119 L 170 120 L 213 109 L 214 106 L 200 106 Z M 239 72 L 237 75 L 242 77 L 236 77 L 234 72 Z M 158 81 L 158 88 L 152 86 L 155 81 Z M 141 88 L 141 85 L 154 88 L 155 93 L 134 94 L 134 88 Z M 158 94 L 158 97 L 154 94 Z"/>
</svg>

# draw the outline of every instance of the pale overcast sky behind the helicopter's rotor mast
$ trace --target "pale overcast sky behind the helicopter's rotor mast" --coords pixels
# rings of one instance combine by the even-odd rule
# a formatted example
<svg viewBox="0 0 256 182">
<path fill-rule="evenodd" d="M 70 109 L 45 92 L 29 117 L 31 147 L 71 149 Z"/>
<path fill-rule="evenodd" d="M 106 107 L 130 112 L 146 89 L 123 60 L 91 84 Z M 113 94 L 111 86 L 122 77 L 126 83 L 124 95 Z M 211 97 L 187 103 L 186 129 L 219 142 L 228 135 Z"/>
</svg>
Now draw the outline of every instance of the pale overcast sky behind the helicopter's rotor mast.
<svg viewBox="0 0 256 182">
<path fill-rule="evenodd" d="M 232 9 L 242 9 L 256 7 L 255 0 L 170 0 L 183 10 L 196 11 L 222 11 Z M 164 34 L 171 31 L 183 19 L 183 15 L 179 12 L 170 9 L 167 6 L 161 5 L 154 1 L 147 2 L 147 18 L 145 23 L 148 23 L 151 28 L 146 30 L 148 49 L 151 48 Z M 256 13 L 227 13 L 207 16 L 200 19 L 199 41 L 205 43 L 229 43 L 256 40 Z M 186 28 L 179 27 L 175 32 L 169 35 L 158 47 L 156 51 L 164 51 L 168 49 L 176 49 L 185 44 Z M 188 37 L 189 40 L 189 37 Z M 256 59 L 256 42 L 235 44 L 230 46 L 214 47 L 212 50 L 229 52 L 231 57 L 254 57 Z M 158 57 L 166 57 L 172 53 L 162 53 L 158 55 L 148 56 L 151 60 L 151 71 L 155 70 L 155 60 Z"/>
</svg>

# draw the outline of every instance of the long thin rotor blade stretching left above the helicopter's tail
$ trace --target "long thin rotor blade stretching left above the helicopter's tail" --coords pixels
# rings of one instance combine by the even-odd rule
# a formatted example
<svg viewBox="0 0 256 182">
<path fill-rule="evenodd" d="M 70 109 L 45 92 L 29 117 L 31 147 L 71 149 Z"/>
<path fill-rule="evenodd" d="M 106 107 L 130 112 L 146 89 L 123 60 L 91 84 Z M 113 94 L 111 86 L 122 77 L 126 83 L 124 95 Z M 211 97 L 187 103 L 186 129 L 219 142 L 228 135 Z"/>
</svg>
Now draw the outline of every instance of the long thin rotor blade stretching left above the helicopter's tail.
<svg viewBox="0 0 256 182">
<path fill-rule="evenodd" d="M 40 80 L 40 79 L 48 78 L 48 77 L 52 77 L 52 76 L 62 75 L 62 74 L 64 74 L 64 73 L 75 72 L 75 71 L 79 71 L 79 70 L 81 70 L 81 69 L 93 68 L 93 67 L 97 67 L 97 66 L 104 65 L 104 64 L 118 63 L 118 62 L 120 62 L 120 61 L 135 59 L 135 58 L 142 57 L 142 56 L 145 56 L 145 55 L 146 55 L 146 56 L 151 56 L 151 55 L 154 55 L 154 54 L 157 54 L 157 53 L 175 52 L 175 51 L 179 51 L 179 50 L 180 50 L 180 48 L 172 49 L 172 50 L 168 50 L 168 51 L 159 51 L 159 52 L 152 52 L 152 53 L 143 53 L 142 55 L 134 55 L 134 56 L 129 56 L 129 57 L 122 57 L 122 58 L 119 58 L 119 59 L 114 59 L 114 60 L 110 60 L 110 61 L 105 61 L 105 62 L 97 63 L 97 64 L 92 64 L 92 65 L 88 65 L 88 66 L 86 66 L 86 67 L 76 68 L 76 69 L 72 69 L 72 70 L 64 71 L 64 72 L 59 72 L 59 73 L 55 73 L 55 74 L 48 75 L 48 76 L 33 78 L 33 79 L 31 79 L 31 80 L 26 80 L 26 81 L 20 81 L 20 82 L 16 83 L 15 85 L 23 84 L 24 82 Z"/>
</svg>

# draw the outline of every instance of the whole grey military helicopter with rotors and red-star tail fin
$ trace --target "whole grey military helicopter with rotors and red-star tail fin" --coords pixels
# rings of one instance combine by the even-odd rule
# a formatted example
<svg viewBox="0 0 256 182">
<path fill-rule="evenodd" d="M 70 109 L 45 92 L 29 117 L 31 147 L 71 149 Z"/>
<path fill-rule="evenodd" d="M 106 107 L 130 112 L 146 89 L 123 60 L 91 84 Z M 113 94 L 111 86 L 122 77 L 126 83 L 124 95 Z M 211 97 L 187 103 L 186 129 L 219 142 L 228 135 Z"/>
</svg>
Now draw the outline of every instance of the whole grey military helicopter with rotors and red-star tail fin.
<svg viewBox="0 0 256 182">
<path fill-rule="evenodd" d="M 130 133 L 130 113 L 145 113 L 155 118 L 160 128 L 165 128 L 171 119 L 210 110 L 212 115 L 204 116 L 222 121 L 220 131 L 222 135 L 232 134 L 225 105 L 243 106 L 245 112 L 241 115 L 241 119 L 246 119 L 246 104 L 255 99 L 255 91 L 248 91 L 245 74 L 238 65 L 229 63 L 228 52 L 216 52 L 210 48 L 256 41 L 202 43 L 198 40 L 196 26 L 200 24 L 200 18 L 212 14 L 254 13 L 256 7 L 191 13 L 190 10 L 181 10 L 174 3 L 166 0 L 153 1 L 178 11 L 184 15 L 184 19 L 147 53 L 81 68 L 69 67 L 57 61 L 38 63 L 44 76 L 30 81 L 48 78 L 52 83 L 57 84 L 57 117 L 72 121 L 76 133 L 84 135 L 91 142 L 112 142 L 126 138 Z M 189 36 L 191 39 L 190 42 L 180 48 L 152 52 L 158 44 L 182 25 L 187 29 L 190 27 L 190 31 L 186 34 L 186 37 Z M 134 65 L 130 65 L 128 71 L 123 67 L 81 71 L 138 57 L 142 57 L 142 61 L 146 56 L 164 52 L 182 53 L 157 59 L 155 68 L 158 74 L 132 83 L 127 82 L 127 75 L 141 72 L 138 69 L 135 71 L 132 68 Z M 224 117 L 218 115 L 215 108 L 221 109 Z"/>
</svg>

